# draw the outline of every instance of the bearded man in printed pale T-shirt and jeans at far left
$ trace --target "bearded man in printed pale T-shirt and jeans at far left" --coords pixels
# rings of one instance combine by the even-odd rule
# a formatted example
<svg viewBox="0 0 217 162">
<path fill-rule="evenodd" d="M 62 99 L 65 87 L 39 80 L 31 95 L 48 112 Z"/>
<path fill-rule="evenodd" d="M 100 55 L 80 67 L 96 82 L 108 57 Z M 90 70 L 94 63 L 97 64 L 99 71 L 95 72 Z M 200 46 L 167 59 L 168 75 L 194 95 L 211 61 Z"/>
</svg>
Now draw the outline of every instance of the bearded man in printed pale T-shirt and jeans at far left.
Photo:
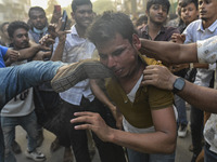
<svg viewBox="0 0 217 162">
<path fill-rule="evenodd" d="M 8 32 L 12 40 L 13 49 L 18 51 L 29 48 L 28 25 L 24 22 L 13 22 L 9 25 Z M 15 62 L 12 65 L 25 64 L 27 60 Z M 11 150 L 15 136 L 15 126 L 21 125 L 28 135 L 26 157 L 35 161 L 46 160 L 44 154 L 36 150 L 37 147 L 37 118 L 35 114 L 33 87 L 25 90 L 10 100 L 1 111 L 1 127 L 5 144 L 5 162 L 16 162 Z"/>
</svg>

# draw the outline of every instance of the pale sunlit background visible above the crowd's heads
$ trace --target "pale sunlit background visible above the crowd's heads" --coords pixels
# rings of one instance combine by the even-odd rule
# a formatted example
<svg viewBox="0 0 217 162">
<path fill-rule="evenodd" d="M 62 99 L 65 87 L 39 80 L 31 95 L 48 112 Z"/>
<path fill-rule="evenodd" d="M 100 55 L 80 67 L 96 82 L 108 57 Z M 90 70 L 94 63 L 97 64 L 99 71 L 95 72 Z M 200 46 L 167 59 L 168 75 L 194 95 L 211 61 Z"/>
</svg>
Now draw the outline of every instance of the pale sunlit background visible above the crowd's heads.
<svg viewBox="0 0 217 162">
<path fill-rule="evenodd" d="M 93 11 L 101 14 L 104 11 L 122 11 L 131 18 L 136 19 L 145 13 L 146 0 L 91 0 Z M 47 13 L 50 21 L 54 5 L 61 5 L 62 10 L 66 10 L 68 15 L 72 12 L 72 0 L 0 0 L 0 24 L 12 21 L 28 21 L 28 10 L 30 6 L 41 6 Z M 169 14 L 176 13 L 177 0 L 170 0 L 171 8 Z"/>
</svg>

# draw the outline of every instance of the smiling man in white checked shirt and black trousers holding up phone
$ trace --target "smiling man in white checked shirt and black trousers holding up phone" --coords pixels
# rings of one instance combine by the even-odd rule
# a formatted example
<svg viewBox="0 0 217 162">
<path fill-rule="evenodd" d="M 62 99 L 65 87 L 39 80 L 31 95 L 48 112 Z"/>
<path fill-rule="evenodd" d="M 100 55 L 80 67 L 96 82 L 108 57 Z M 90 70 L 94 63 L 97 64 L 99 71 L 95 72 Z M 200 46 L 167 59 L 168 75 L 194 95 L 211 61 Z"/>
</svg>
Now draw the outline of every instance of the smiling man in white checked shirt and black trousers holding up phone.
<svg viewBox="0 0 217 162">
<path fill-rule="evenodd" d="M 91 58 L 95 46 L 86 38 L 86 30 L 93 19 L 92 3 L 90 0 L 74 0 L 72 2 L 72 17 L 76 24 L 71 28 L 72 32 L 65 37 L 59 37 L 55 40 L 54 53 L 52 60 L 62 60 L 64 63 L 77 63 L 81 59 Z M 68 121 L 75 118 L 76 111 L 98 111 L 111 126 L 115 126 L 112 114 L 102 103 L 100 103 L 90 90 L 89 80 L 77 83 L 72 89 L 60 93 L 62 99 L 62 111 L 64 117 L 64 127 L 60 130 L 61 134 L 65 132 L 68 136 L 59 138 L 64 146 L 73 146 L 77 162 L 90 162 L 88 151 L 86 131 L 75 131 L 74 125 Z M 71 129 L 68 129 L 71 127 Z M 123 148 L 111 144 L 103 143 L 94 134 L 92 135 L 99 150 L 102 162 L 125 162 Z M 116 156 L 115 156 L 116 154 Z"/>
</svg>

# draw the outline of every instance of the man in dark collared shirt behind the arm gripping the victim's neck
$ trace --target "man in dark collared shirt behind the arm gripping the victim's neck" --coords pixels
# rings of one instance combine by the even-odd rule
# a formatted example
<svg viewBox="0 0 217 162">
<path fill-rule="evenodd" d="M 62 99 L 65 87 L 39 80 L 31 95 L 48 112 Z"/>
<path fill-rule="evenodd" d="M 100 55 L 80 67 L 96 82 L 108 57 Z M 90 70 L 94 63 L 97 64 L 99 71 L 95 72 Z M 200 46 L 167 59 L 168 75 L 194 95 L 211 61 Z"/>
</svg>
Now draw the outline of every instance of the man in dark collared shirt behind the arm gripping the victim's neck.
<svg viewBox="0 0 217 162">
<path fill-rule="evenodd" d="M 149 0 L 145 12 L 148 25 L 140 29 L 139 36 L 154 41 L 169 41 L 173 33 L 179 33 L 174 27 L 164 27 L 169 8 L 168 0 Z"/>
</svg>

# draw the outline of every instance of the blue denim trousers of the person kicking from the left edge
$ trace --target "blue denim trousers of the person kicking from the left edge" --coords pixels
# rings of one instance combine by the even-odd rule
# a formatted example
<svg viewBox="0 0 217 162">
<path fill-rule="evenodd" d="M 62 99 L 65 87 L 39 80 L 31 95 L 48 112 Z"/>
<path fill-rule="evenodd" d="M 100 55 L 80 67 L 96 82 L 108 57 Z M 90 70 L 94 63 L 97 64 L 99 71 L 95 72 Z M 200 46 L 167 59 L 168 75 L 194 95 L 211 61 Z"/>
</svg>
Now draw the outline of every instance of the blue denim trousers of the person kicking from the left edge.
<svg viewBox="0 0 217 162">
<path fill-rule="evenodd" d="M 61 66 L 63 66 L 61 62 L 30 62 L 20 66 L 0 68 L 0 110 L 16 94 L 53 79 Z M 3 134 L 0 131 L 1 162 L 3 162 Z"/>
</svg>

